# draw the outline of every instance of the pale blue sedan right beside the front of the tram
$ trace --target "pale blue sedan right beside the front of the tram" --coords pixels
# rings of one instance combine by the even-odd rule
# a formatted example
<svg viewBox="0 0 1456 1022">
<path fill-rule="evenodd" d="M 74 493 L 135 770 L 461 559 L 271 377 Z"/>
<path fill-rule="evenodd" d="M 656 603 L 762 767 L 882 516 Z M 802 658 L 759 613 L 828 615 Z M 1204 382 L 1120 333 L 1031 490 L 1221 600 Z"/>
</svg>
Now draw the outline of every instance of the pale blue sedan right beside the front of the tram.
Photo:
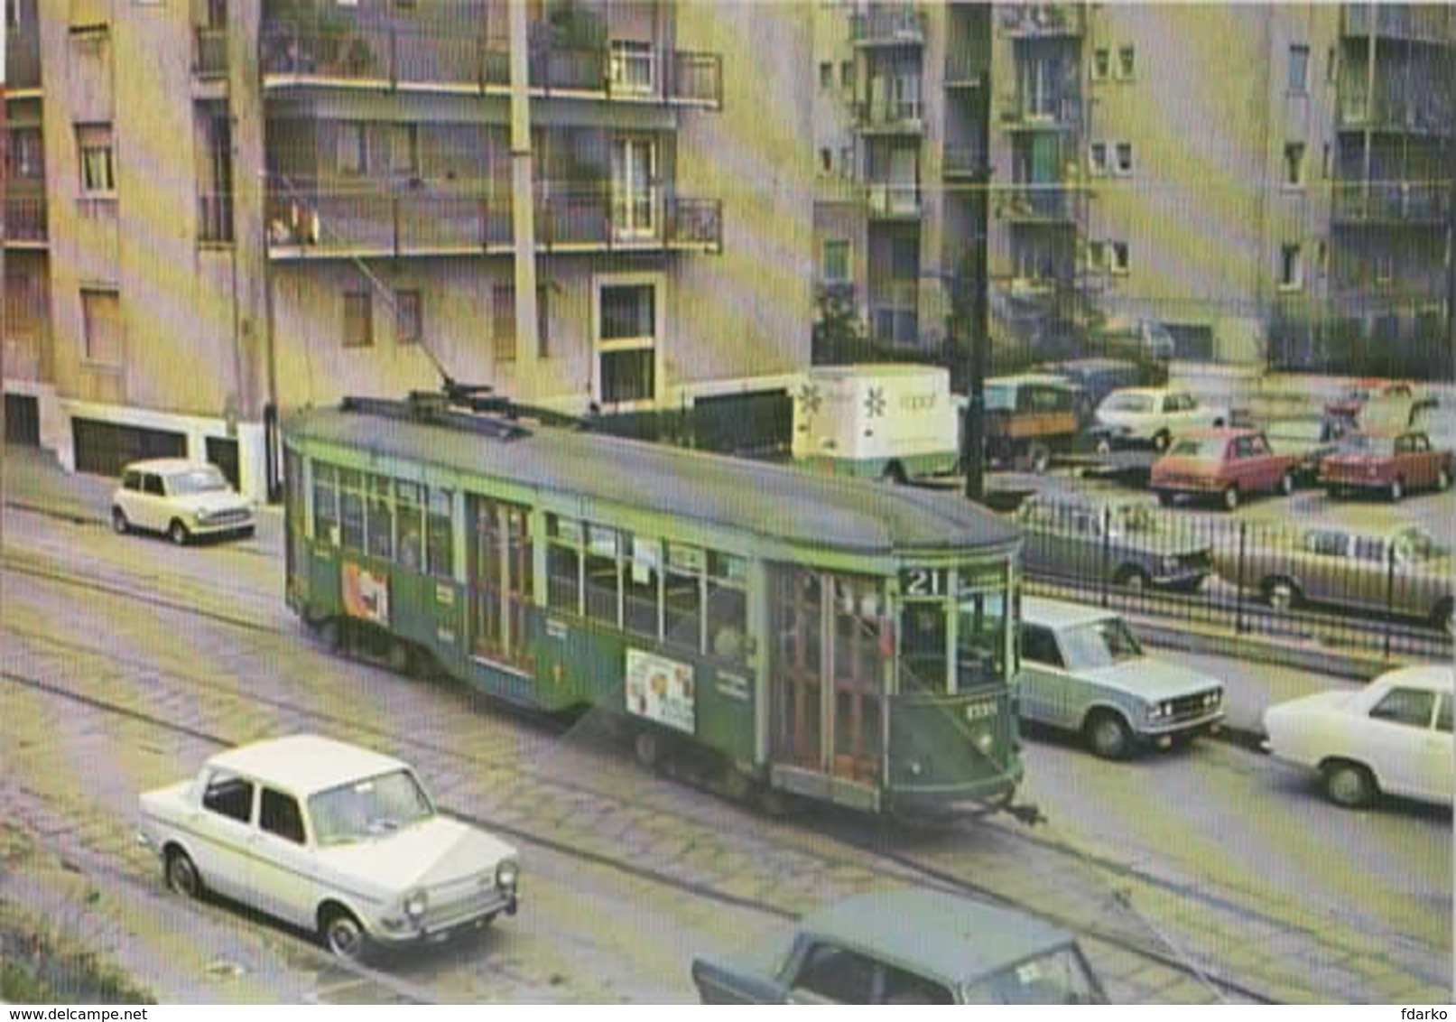
<svg viewBox="0 0 1456 1022">
<path fill-rule="evenodd" d="M 1080 734 L 1109 760 L 1223 721 L 1219 678 L 1146 655 L 1115 611 L 1060 600 L 1021 601 L 1016 699 L 1022 719 Z"/>
</svg>

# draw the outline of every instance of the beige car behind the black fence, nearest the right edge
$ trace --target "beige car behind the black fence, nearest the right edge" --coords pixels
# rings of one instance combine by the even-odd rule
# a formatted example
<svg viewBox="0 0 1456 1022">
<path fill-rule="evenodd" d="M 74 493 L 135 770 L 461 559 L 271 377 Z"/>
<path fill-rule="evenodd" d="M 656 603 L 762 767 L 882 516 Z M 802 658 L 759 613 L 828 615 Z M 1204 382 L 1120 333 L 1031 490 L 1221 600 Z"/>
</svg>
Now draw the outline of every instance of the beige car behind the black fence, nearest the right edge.
<svg viewBox="0 0 1456 1022">
<path fill-rule="evenodd" d="M 1275 610 L 1303 603 L 1418 617 L 1452 632 L 1452 553 L 1418 526 L 1369 533 L 1319 524 L 1291 543 L 1249 543 L 1242 556 L 1216 547 L 1213 569 L 1257 590 Z"/>
</svg>

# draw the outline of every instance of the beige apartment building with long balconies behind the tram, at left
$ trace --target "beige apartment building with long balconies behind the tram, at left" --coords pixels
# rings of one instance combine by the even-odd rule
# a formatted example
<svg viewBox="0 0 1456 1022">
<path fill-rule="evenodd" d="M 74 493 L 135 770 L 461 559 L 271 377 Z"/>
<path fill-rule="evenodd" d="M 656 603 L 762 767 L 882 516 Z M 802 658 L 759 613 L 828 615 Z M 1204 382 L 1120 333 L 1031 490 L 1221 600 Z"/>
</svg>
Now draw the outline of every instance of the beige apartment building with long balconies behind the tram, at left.
<svg viewBox="0 0 1456 1022">
<path fill-rule="evenodd" d="M 261 495 L 275 416 L 347 393 L 783 387 L 811 13 L 10 0 L 12 418 L 82 470 L 189 454 Z"/>
</svg>

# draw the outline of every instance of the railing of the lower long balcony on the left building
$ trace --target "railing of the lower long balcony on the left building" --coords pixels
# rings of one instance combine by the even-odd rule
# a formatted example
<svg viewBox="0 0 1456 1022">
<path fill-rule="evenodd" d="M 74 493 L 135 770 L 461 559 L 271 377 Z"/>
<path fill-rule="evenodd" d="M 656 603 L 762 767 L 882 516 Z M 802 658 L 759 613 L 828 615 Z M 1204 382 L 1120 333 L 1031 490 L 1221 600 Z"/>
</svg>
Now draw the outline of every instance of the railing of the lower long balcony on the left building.
<svg viewBox="0 0 1456 1022">
<path fill-rule="evenodd" d="M 510 189 L 403 192 L 384 188 L 277 188 L 268 197 L 275 259 L 514 252 Z M 722 202 L 601 182 L 543 182 L 536 189 L 543 252 L 721 252 Z"/>
</svg>

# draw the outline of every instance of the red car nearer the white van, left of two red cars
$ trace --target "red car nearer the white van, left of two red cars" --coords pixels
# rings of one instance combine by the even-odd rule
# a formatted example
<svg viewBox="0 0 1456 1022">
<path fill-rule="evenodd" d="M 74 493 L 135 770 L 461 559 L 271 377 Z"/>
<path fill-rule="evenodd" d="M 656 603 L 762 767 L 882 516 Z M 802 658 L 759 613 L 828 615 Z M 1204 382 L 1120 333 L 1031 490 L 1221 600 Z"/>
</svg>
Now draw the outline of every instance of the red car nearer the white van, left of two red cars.
<svg viewBox="0 0 1456 1022">
<path fill-rule="evenodd" d="M 1168 507 L 1179 496 L 1217 499 L 1233 511 L 1251 494 L 1293 494 L 1293 454 L 1275 454 L 1258 429 L 1198 429 L 1153 462 L 1152 486 Z"/>
</svg>

